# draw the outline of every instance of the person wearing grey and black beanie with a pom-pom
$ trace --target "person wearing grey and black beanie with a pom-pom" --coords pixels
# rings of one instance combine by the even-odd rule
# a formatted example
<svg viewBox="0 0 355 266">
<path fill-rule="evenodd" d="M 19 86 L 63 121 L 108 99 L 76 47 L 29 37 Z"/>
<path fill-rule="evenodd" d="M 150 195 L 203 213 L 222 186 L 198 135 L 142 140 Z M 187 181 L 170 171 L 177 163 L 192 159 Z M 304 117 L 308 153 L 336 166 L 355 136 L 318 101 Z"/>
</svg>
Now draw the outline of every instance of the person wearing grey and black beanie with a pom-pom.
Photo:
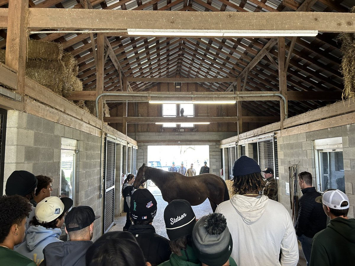
<svg viewBox="0 0 355 266">
<path fill-rule="evenodd" d="M 232 236 L 221 213 L 214 212 L 198 219 L 192 230 L 192 249 L 202 266 L 237 266 L 230 256 Z"/>
</svg>

